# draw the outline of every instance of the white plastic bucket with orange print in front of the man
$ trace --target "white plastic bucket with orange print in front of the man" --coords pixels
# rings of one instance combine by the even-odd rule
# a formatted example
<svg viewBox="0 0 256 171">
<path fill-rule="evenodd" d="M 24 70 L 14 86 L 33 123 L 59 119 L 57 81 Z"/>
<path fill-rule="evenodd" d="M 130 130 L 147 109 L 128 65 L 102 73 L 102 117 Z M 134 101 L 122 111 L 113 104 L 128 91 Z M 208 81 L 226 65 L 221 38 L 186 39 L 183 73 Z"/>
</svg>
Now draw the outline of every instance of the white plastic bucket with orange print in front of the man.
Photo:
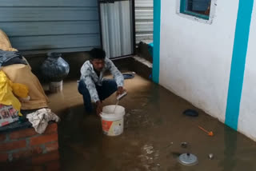
<svg viewBox="0 0 256 171">
<path fill-rule="evenodd" d="M 100 114 L 102 117 L 103 133 L 108 136 L 118 136 L 122 134 L 123 117 L 125 114 L 126 110 L 121 105 L 106 105 L 103 107 L 102 113 Z"/>
</svg>

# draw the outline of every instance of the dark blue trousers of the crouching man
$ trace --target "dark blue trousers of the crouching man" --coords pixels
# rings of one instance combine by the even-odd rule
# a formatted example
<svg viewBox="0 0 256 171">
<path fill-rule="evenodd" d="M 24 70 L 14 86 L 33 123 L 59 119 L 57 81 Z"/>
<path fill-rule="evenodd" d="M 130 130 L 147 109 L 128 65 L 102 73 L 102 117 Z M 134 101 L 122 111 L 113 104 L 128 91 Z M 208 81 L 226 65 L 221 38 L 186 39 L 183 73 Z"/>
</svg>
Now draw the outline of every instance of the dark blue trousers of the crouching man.
<svg viewBox="0 0 256 171">
<path fill-rule="evenodd" d="M 118 89 L 117 83 L 114 79 L 107 79 L 102 82 L 102 86 L 96 85 L 96 89 L 98 92 L 98 97 L 100 101 L 105 100 L 107 97 L 110 97 L 112 93 L 114 93 Z M 78 92 L 82 94 L 83 97 L 83 105 L 85 106 L 86 112 L 92 112 L 93 107 L 91 104 L 91 98 L 89 90 L 86 88 L 86 83 L 83 81 L 79 82 Z"/>
</svg>

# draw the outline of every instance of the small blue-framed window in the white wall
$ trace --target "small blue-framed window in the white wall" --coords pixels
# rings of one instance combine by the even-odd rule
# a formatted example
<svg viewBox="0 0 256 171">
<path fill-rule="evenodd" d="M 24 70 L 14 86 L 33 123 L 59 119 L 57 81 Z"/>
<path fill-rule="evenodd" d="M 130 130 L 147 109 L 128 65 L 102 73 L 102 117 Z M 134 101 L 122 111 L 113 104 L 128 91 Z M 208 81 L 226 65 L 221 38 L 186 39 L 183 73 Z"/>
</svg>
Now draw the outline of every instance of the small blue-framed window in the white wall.
<svg viewBox="0 0 256 171">
<path fill-rule="evenodd" d="M 182 14 L 209 20 L 211 0 L 181 0 Z"/>
</svg>

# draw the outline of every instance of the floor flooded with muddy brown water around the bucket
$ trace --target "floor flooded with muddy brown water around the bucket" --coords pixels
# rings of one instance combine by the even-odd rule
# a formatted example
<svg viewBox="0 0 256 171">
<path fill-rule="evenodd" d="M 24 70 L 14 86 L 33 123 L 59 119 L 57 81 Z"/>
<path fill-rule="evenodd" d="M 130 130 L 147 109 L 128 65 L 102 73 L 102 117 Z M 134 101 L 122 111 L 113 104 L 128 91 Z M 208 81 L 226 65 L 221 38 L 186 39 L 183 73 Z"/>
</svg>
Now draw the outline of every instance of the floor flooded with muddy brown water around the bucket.
<svg viewBox="0 0 256 171">
<path fill-rule="evenodd" d="M 126 80 L 124 133 L 102 134 L 100 118 L 86 115 L 77 83 L 65 82 L 62 93 L 50 94 L 50 108 L 62 117 L 58 128 L 62 170 L 88 171 L 241 171 L 256 170 L 256 143 L 202 111 L 199 117 L 182 115 L 195 109 L 170 91 L 136 76 Z M 114 96 L 104 105 L 114 104 Z M 208 137 L 198 125 L 214 131 Z M 181 143 L 189 143 L 182 149 Z M 199 163 L 183 166 L 180 153 L 194 153 Z M 208 154 L 214 153 L 209 160 Z"/>
</svg>

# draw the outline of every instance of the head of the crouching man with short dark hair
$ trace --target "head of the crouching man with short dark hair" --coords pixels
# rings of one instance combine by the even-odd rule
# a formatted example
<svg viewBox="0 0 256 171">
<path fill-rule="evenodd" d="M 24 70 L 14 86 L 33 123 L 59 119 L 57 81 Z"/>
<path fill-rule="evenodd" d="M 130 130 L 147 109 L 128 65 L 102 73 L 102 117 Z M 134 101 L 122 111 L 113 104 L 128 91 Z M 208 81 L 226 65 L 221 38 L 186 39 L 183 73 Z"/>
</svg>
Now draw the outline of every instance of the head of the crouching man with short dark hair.
<svg viewBox="0 0 256 171">
<path fill-rule="evenodd" d="M 106 52 L 102 49 L 94 48 L 90 50 L 90 63 L 94 66 L 94 70 L 101 72 L 105 66 Z"/>
</svg>

